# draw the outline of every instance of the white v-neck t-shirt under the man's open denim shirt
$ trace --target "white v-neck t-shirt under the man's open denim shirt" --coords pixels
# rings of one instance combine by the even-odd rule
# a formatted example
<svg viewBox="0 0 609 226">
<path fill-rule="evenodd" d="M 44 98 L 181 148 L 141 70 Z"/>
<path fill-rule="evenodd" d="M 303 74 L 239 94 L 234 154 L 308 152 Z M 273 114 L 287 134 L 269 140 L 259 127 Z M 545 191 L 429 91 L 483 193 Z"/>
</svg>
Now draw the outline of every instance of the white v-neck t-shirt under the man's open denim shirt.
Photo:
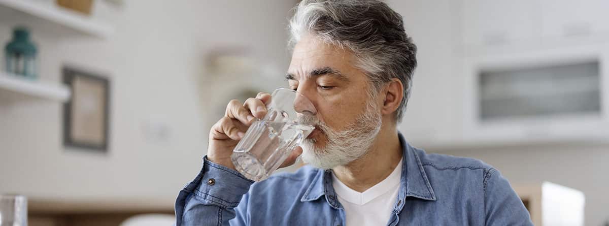
<svg viewBox="0 0 609 226">
<path fill-rule="evenodd" d="M 345 208 L 346 225 L 387 225 L 395 208 L 401 175 L 402 160 L 387 178 L 364 192 L 357 192 L 340 182 L 333 173 L 332 186 Z"/>
</svg>

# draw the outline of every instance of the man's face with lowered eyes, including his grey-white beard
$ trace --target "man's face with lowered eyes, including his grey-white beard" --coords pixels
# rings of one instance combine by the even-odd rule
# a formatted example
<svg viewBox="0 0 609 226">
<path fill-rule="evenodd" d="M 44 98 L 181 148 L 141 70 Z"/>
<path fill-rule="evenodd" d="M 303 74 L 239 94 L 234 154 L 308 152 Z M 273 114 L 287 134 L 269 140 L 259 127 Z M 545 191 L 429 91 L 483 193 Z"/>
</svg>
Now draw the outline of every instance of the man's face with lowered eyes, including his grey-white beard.
<svg viewBox="0 0 609 226">
<path fill-rule="evenodd" d="M 359 158 L 380 129 L 376 98 L 370 82 L 354 67 L 347 50 L 303 37 L 294 48 L 287 73 L 289 87 L 306 96 L 317 110 L 319 123 L 303 145 L 303 160 L 333 168 Z M 350 145 L 352 144 L 352 145 Z"/>
</svg>

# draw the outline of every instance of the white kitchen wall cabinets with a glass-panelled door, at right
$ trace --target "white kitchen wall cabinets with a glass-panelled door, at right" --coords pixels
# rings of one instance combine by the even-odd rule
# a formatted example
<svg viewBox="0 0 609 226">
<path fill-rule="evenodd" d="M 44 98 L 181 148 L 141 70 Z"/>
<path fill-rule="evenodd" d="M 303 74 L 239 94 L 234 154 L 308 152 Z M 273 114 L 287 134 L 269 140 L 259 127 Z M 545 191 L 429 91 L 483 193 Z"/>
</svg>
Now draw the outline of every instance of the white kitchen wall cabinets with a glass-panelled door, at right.
<svg viewBox="0 0 609 226">
<path fill-rule="evenodd" d="M 454 140 L 436 144 L 437 149 L 609 141 L 609 1 L 461 0 L 453 7 L 453 18 L 458 21 L 455 24 L 461 38 L 454 42 L 453 48 L 462 50 L 454 54 L 453 70 L 456 77 L 453 100 L 460 103 L 455 107 L 460 125 L 452 131 Z M 485 71 L 529 73 L 527 68 L 548 66 L 554 67 L 549 71 L 555 72 L 558 66 L 585 62 L 598 64 L 594 83 L 573 77 L 572 80 L 549 79 L 537 83 L 512 81 L 510 87 L 510 81 L 498 82 L 504 78 L 496 77 L 495 83 L 481 90 L 484 88 L 481 87 L 481 73 Z M 556 74 L 549 71 L 541 70 L 541 73 Z M 579 76 L 579 72 L 569 73 Z M 577 101 L 577 98 L 587 98 L 581 89 L 589 90 L 597 98 L 597 105 L 590 105 L 594 112 L 564 113 L 590 101 Z M 481 93 L 485 95 L 481 96 Z M 530 113 L 551 107 L 531 103 L 548 105 L 549 101 L 560 103 L 563 100 L 560 95 L 568 98 L 564 99 L 566 105 L 560 114 L 485 120 L 481 108 L 489 105 L 482 101 L 495 98 L 495 94 L 498 98 L 511 99 L 491 100 L 490 106 L 501 114 L 511 112 L 512 115 L 534 115 Z M 554 99 L 540 95 L 553 95 Z"/>
</svg>

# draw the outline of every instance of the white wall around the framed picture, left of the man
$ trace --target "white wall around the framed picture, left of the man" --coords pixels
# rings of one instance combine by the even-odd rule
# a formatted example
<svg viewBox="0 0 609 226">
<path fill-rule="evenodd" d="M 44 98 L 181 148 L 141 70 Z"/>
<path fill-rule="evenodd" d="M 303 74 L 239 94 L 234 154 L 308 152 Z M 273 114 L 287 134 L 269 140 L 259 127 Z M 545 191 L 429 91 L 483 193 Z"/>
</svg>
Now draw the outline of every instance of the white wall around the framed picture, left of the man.
<svg viewBox="0 0 609 226">
<path fill-rule="evenodd" d="M 60 82 L 64 63 L 102 72 L 111 80 L 107 154 L 65 149 L 62 105 L 0 98 L 0 193 L 71 199 L 149 199 L 173 205 L 194 178 L 206 152 L 207 107 L 201 83 L 205 54 L 241 45 L 259 58 L 286 65 L 286 18 L 292 1 L 124 1 L 112 15 L 109 40 L 57 39 L 33 30 L 40 77 Z M 0 43 L 11 28 L 0 23 Z M 283 69 L 283 68 L 281 68 Z M 167 127 L 150 141 L 143 125 Z"/>
</svg>

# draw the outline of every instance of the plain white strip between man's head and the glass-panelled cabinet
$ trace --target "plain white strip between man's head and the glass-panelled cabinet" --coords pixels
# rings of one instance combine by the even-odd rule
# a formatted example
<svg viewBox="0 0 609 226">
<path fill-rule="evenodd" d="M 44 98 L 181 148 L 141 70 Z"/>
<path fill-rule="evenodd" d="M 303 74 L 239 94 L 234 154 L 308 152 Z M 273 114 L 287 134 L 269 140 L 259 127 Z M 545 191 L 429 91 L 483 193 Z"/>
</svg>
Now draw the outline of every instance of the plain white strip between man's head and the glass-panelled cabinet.
<svg viewBox="0 0 609 226">
<path fill-rule="evenodd" d="M 388 1 L 404 16 L 407 34 L 417 44 L 417 69 L 406 114 L 400 131 L 419 141 L 449 139 L 454 130 L 451 80 L 452 42 L 456 31 L 451 24 L 451 1 Z"/>
</svg>

